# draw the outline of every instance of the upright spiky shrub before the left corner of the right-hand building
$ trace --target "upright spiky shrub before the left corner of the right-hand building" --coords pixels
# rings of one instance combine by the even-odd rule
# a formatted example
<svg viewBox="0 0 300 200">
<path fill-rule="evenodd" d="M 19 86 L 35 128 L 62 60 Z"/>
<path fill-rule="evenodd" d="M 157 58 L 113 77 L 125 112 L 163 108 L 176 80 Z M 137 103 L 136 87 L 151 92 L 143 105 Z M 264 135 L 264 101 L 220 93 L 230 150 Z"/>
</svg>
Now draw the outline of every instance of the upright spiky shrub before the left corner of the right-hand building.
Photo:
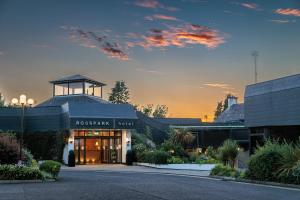
<svg viewBox="0 0 300 200">
<path fill-rule="evenodd" d="M 224 165 L 229 164 L 234 168 L 234 163 L 238 155 L 238 145 L 237 142 L 231 139 L 225 140 L 223 145 L 219 147 L 220 160 Z"/>
</svg>

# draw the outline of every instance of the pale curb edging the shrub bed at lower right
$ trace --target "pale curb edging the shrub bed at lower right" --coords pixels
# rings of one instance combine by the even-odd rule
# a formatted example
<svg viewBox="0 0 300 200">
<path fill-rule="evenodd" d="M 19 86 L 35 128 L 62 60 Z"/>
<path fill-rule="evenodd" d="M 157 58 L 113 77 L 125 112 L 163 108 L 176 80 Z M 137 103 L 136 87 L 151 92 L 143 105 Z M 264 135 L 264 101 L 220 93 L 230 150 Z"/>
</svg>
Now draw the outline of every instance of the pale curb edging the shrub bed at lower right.
<svg viewBox="0 0 300 200">
<path fill-rule="evenodd" d="M 277 183 L 277 182 L 269 182 L 269 181 L 255 181 L 249 179 L 237 179 L 233 177 L 225 177 L 225 176 L 209 176 L 211 178 L 217 178 L 222 181 L 232 181 L 232 182 L 240 182 L 240 183 L 252 183 L 258 185 L 268 185 L 268 186 L 277 186 L 277 187 L 284 187 L 284 188 L 295 188 L 300 189 L 300 185 L 295 184 L 285 184 L 285 183 Z"/>
</svg>

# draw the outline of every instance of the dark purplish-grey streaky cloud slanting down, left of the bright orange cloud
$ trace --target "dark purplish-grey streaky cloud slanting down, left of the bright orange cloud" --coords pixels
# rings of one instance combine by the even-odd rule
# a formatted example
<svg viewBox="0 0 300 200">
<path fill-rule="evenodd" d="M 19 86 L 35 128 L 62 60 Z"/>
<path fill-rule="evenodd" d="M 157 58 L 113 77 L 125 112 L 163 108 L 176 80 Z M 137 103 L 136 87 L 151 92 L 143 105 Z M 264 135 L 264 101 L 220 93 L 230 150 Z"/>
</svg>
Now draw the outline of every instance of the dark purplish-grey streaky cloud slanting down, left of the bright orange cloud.
<svg viewBox="0 0 300 200">
<path fill-rule="evenodd" d="M 69 31 L 69 39 L 79 46 L 98 49 L 109 58 L 118 60 L 129 60 L 124 48 L 117 42 L 110 41 L 104 34 L 96 34 L 93 31 L 85 31 L 77 27 L 61 26 L 63 30 Z M 106 32 L 106 31 L 105 31 Z"/>
</svg>

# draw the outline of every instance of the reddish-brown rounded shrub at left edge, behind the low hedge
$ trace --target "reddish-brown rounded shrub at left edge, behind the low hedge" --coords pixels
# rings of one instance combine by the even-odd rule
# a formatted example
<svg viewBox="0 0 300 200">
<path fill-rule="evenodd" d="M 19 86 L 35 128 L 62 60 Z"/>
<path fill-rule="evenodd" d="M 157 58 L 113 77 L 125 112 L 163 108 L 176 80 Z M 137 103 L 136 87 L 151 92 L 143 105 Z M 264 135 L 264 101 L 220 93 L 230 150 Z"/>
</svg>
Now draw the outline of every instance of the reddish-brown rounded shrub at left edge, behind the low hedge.
<svg viewBox="0 0 300 200">
<path fill-rule="evenodd" d="M 16 164 L 19 160 L 20 147 L 13 135 L 0 134 L 0 164 Z"/>
</svg>

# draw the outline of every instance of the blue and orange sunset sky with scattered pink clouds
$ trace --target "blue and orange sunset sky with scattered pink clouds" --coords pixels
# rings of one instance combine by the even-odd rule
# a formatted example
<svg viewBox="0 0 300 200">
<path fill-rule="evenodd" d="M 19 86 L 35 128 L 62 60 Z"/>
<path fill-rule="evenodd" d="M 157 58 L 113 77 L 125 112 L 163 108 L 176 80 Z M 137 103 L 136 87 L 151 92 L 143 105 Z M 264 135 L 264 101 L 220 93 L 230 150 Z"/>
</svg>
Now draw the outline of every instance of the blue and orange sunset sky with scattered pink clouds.
<svg viewBox="0 0 300 200">
<path fill-rule="evenodd" d="M 0 0 L 0 92 L 52 95 L 50 80 L 124 80 L 130 102 L 208 115 L 227 93 L 300 73 L 299 0 Z"/>
</svg>

